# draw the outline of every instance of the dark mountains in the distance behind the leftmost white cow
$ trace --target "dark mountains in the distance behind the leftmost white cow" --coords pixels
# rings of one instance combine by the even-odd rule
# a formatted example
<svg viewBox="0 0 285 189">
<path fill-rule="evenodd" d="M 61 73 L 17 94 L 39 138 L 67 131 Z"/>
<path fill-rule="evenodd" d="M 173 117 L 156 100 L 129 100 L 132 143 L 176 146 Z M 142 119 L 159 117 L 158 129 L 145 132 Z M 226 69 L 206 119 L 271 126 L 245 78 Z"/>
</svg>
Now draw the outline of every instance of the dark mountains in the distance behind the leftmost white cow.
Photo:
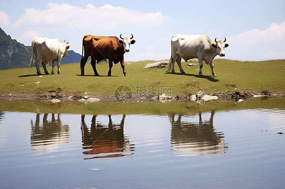
<svg viewBox="0 0 285 189">
<path fill-rule="evenodd" d="M 31 46 L 25 46 L 16 39 L 12 39 L 0 28 L 0 70 L 28 68 L 30 58 Z M 61 59 L 60 65 L 79 63 L 80 61 L 81 55 L 71 50 L 68 51 L 68 57 Z"/>
</svg>

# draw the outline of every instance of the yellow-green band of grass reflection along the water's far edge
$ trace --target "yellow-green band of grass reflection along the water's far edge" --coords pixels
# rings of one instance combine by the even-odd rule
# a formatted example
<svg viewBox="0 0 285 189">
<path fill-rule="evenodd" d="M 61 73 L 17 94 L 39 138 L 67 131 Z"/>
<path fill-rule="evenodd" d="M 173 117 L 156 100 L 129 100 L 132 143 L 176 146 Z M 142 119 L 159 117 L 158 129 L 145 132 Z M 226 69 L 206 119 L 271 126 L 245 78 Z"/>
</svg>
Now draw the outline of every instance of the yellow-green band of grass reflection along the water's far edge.
<svg viewBox="0 0 285 189">
<path fill-rule="evenodd" d="M 219 110 L 238 110 L 254 108 L 280 108 L 285 107 L 285 98 L 251 99 L 245 103 L 230 101 L 209 101 L 203 106 L 196 102 L 171 102 L 171 103 L 118 103 L 118 102 L 60 102 L 58 104 L 36 102 L 36 101 L 5 101 L 0 100 L 0 110 L 34 112 L 34 113 L 65 113 L 65 114 L 165 114 L 185 113 L 195 114 L 197 112 L 209 112 Z"/>
</svg>

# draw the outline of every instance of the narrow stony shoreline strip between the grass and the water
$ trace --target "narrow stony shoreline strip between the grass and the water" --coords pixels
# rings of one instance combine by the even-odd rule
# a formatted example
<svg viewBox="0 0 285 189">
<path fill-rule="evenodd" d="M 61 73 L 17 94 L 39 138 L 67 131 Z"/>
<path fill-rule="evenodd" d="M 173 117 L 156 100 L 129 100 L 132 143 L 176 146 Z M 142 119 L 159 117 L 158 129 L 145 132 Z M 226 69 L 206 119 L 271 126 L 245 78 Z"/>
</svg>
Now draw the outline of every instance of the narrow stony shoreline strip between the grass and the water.
<svg viewBox="0 0 285 189">
<path fill-rule="evenodd" d="M 195 95 L 195 94 L 194 94 Z M 285 97 L 285 92 L 278 93 L 268 93 L 263 94 L 261 92 L 244 92 L 244 91 L 235 91 L 234 93 L 212 93 L 207 94 L 210 96 L 217 96 L 216 101 L 224 100 L 244 100 L 244 99 L 253 99 L 253 98 L 272 98 L 272 97 Z M 73 101 L 73 102 L 121 102 L 121 103 L 152 103 L 152 102 L 170 102 L 170 101 L 190 101 L 191 95 L 176 95 L 176 96 L 163 96 L 163 95 L 131 95 L 116 97 L 115 95 L 90 95 L 90 96 L 81 96 L 78 94 L 62 95 L 60 93 L 36 93 L 36 94 L 1 94 L 0 100 L 33 100 L 39 102 L 61 102 L 61 101 Z M 87 101 L 92 99 L 95 101 Z M 54 101 L 52 101 L 54 100 Z"/>
</svg>

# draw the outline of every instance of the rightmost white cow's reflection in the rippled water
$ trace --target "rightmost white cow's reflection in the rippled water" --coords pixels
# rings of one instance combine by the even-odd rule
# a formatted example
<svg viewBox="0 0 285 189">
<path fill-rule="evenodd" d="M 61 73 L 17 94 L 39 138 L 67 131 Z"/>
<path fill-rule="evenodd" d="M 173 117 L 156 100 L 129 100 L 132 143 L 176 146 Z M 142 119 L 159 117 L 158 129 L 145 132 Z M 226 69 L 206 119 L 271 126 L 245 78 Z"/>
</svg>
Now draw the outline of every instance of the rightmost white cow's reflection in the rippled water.
<svg viewBox="0 0 285 189">
<path fill-rule="evenodd" d="M 199 112 L 199 122 L 191 123 L 182 121 L 188 117 L 178 115 L 175 121 L 175 114 L 169 115 L 171 128 L 171 144 L 173 154 L 182 156 L 198 156 L 209 154 L 225 153 L 224 134 L 216 132 L 213 127 L 213 116 L 215 112 L 211 112 L 209 121 L 202 121 L 202 113 Z"/>
</svg>

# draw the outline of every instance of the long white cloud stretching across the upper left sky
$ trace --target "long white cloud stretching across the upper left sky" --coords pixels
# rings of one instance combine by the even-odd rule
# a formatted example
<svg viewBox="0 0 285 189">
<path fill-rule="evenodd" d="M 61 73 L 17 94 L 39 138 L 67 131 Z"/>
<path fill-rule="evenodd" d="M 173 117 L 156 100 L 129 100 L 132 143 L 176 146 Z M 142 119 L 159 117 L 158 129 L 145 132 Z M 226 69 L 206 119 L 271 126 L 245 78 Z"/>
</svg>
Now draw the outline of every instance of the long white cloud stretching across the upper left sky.
<svg viewBox="0 0 285 189">
<path fill-rule="evenodd" d="M 13 23 L 15 28 L 25 27 L 81 27 L 81 28 L 116 28 L 120 25 L 159 25 L 166 17 L 160 12 L 141 13 L 138 11 L 104 5 L 100 8 L 88 4 L 86 8 L 49 3 L 48 9 L 25 9 L 19 19 Z"/>
</svg>

